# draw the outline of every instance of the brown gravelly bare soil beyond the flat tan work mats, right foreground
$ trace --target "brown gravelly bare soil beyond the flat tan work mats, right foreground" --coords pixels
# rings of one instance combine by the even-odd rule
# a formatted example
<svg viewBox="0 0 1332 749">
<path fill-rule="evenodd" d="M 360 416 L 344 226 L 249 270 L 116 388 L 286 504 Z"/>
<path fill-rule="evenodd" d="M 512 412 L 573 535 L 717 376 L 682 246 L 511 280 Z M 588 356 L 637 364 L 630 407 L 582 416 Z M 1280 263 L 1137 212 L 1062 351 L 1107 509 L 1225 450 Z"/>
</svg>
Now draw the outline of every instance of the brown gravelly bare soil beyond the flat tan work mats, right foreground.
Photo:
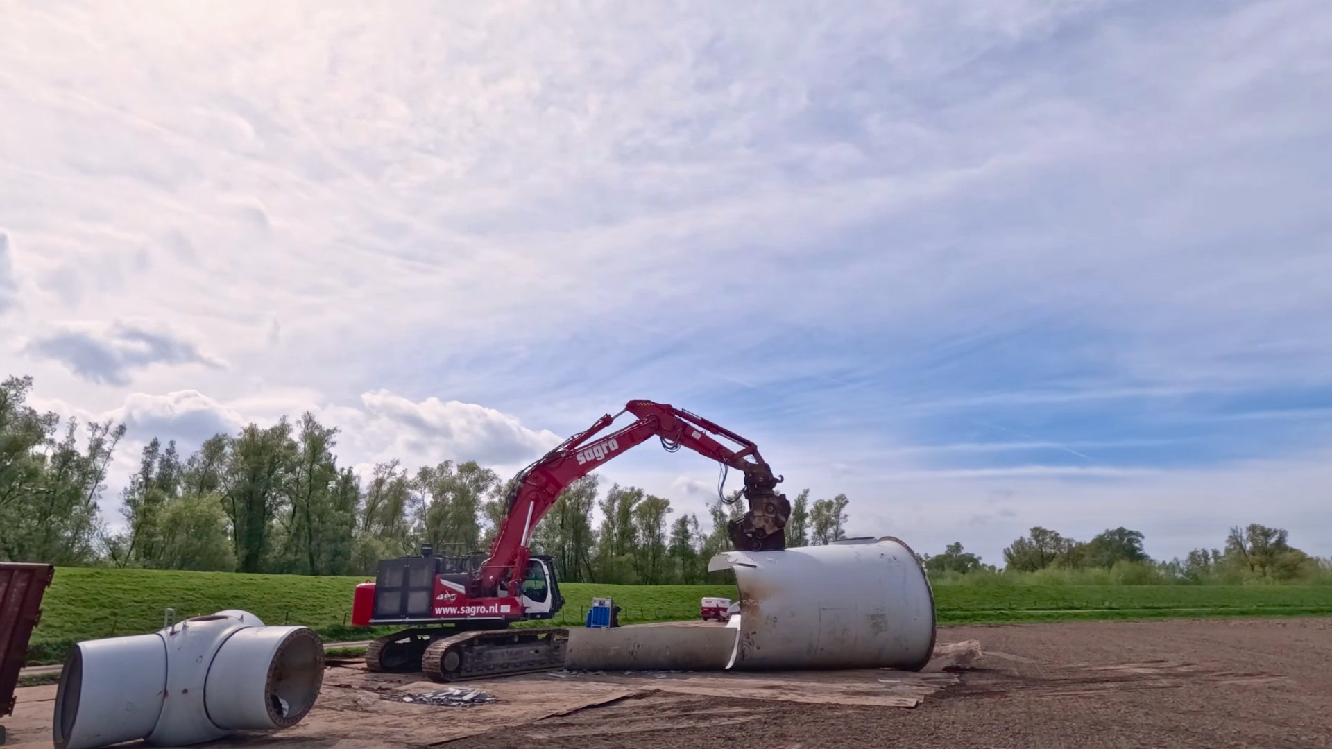
<svg viewBox="0 0 1332 749">
<path fill-rule="evenodd" d="M 1332 620 L 942 628 L 987 656 L 916 709 L 649 694 L 450 749 L 1332 746 Z"/>
</svg>

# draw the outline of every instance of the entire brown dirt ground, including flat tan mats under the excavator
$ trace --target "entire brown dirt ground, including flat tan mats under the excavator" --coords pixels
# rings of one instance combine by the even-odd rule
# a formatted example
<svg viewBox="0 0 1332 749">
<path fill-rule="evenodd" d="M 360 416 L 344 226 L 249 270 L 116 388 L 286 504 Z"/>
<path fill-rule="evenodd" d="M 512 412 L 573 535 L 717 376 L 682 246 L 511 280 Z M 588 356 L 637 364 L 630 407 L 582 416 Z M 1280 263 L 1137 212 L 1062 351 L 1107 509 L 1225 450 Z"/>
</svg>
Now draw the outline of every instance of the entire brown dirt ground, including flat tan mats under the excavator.
<svg viewBox="0 0 1332 749">
<path fill-rule="evenodd" d="M 1328 618 L 940 628 L 967 640 L 984 654 L 944 673 L 533 674 L 473 684 L 500 701 L 468 708 L 381 698 L 437 688 L 420 676 L 333 668 L 296 729 L 217 745 L 1332 748 Z M 51 746 L 53 697 L 19 692 L 11 741 Z"/>
</svg>

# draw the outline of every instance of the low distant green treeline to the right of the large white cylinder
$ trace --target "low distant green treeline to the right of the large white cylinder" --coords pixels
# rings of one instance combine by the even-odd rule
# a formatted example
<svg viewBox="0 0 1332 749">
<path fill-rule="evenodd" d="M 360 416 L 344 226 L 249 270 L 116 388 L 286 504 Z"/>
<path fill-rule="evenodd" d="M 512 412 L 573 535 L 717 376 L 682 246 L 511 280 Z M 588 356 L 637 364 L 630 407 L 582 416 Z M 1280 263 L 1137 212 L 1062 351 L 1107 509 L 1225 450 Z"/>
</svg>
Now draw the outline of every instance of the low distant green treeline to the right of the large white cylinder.
<svg viewBox="0 0 1332 749">
<path fill-rule="evenodd" d="M 1042 581 L 1120 584 L 1240 584 L 1332 581 L 1329 560 L 1291 546 L 1280 528 L 1233 526 L 1220 549 L 1193 549 L 1184 558 L 1152 560 L 1143 534 L 1128 528 L 1107 529 L 1090 541 L 1076 541 L 1047 528 L 1032 528 L 1003 550 L 1004 566 L 983 564 L 950 544 L 942 554 L 922 554 L 935 578 L 1031 576 Z"/>
</svg>

